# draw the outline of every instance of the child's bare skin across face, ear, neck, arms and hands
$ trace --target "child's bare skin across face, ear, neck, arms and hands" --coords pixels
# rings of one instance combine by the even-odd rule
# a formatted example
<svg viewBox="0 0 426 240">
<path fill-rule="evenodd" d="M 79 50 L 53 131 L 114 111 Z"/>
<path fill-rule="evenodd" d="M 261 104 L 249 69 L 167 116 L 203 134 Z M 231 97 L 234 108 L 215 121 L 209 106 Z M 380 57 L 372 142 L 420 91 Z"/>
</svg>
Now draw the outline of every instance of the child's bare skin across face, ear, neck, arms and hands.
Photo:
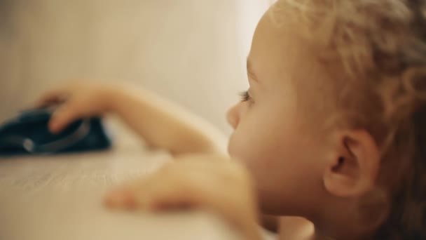
<svg viewBox="0 0 426 240">
<path fill-rule="evenodd" d="M 324 73 L 298 27 L 276 27 L 267 13 L 256 28 L 250 88 L 227 116 L 235 129 L 228 145 L 235 161 L 223 154 L 224 139 L 214 128 L 148 91 L 73 84 L 46 93 L 39 105 L 64 100 L 50 121 L 53 132 L 80 117 L 115 112 L 150 145 L 177 156 L 157 173 L 109 194 L 109 206 L 209 208 L 246 239 L 260 239 L 258 215 L 266 227 L 280 230 L 280 239 L 365 239 L 376 226 L 353 216 L 375 186 L 378 147 L 363 129 L 311 131 L 320 128 L 319 120 L 308 117 L 299 98 L 315 92 L 308 81 Z"/>
</svg>

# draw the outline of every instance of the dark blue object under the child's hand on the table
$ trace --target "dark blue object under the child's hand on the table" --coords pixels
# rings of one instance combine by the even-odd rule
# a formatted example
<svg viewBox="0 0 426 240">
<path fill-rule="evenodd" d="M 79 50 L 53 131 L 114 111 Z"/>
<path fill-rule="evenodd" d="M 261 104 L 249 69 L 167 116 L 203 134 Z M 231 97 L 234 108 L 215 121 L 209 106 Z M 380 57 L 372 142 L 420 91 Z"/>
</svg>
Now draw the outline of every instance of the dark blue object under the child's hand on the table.
<svg viewBox="0 0 426 240">
<path fill-rule="evenodd" d="M 111 147 L 102 119 L 80 119 L 61 133 L 48 130 L 54 108 L 31 109 L 0 125 L 0 156 L 86 152 Z"/>
</svg>

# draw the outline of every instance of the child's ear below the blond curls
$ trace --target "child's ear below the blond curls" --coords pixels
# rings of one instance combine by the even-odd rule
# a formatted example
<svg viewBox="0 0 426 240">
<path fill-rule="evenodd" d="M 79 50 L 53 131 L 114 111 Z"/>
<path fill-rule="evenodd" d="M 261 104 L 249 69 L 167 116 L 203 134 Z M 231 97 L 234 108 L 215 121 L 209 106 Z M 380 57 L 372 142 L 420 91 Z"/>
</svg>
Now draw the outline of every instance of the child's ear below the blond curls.
<svg viewBox="0 0 426 240">
<path fill-rule="evenodd" d="M 375 185 L 380 151 L 364 130 L 338 133 L 336 147 L 324 171 L 324 187 L 335 196 L 362 196 Z"/>
</svg>

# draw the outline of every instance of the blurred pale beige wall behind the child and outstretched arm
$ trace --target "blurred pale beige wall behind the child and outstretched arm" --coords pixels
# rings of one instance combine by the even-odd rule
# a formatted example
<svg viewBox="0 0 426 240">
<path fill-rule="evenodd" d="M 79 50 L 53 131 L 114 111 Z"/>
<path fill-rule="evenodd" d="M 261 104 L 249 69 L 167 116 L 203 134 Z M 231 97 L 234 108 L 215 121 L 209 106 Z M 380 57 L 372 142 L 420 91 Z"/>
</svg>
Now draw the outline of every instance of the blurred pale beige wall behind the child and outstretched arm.
<svg viewBox="0 0 426 240">
<path fill-rule="evenodd" d="M 70 79 L 130 81 L 230 132 L 270 0 L 0 0 L 0 121 Z"/>
</svg>

